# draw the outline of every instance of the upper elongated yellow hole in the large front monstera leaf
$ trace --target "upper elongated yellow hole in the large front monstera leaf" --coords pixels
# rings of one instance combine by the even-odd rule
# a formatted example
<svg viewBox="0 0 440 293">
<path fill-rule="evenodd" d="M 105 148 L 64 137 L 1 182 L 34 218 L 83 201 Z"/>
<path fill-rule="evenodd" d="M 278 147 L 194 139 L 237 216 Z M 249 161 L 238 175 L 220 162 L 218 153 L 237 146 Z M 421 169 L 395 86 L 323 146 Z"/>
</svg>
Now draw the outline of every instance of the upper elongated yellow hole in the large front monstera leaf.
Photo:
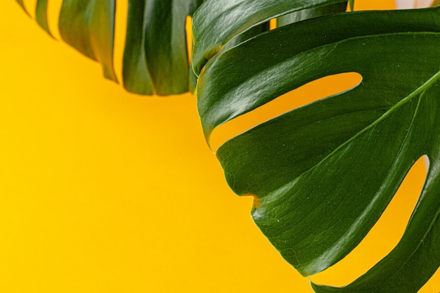
<svg viewBox="0 0 440 293">
<path fill-rule="evenodd" d="M 348 91 L 360 84 L 361 81 L 361 74 L 345 72 L 304 84 L 298 89 L 285 93 L 283 96 L 217 127 L 210 139 L 212 150 L 217 150 L 222 143 L 262 122 L 316 100 Z"/>
</svg>

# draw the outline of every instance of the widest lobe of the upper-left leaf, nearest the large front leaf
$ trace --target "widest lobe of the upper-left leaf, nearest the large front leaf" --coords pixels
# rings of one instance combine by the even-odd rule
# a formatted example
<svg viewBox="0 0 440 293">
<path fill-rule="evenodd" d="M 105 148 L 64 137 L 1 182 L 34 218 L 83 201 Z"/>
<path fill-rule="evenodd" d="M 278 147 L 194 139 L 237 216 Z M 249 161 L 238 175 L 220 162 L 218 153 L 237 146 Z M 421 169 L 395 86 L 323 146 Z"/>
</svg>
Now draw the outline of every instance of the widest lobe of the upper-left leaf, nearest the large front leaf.
<svg viewBox="0 0 440 293">
<path fill-rule="evenodd" d="M 186 17 L 202 0 L 130 0 L 123 78 L 127 90 L 159 95 L 195 86 L 188 61 Z"/>
</svg>

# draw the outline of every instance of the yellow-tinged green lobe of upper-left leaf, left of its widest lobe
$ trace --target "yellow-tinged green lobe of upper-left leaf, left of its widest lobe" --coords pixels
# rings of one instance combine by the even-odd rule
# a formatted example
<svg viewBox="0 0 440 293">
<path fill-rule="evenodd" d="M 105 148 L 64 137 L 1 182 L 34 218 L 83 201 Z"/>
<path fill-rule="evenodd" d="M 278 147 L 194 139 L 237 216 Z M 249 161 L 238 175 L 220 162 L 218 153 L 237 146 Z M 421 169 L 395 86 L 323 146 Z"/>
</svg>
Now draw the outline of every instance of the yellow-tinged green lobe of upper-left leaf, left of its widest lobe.
<svg viewBox="0 0 440 293">
<path fill-rule="evenodd" d="M 64 0 L 60 34 L 70 46 L 103 65 L 104 77 L 117 82 L 113 68 L 115 0 Z"/>
</svg>

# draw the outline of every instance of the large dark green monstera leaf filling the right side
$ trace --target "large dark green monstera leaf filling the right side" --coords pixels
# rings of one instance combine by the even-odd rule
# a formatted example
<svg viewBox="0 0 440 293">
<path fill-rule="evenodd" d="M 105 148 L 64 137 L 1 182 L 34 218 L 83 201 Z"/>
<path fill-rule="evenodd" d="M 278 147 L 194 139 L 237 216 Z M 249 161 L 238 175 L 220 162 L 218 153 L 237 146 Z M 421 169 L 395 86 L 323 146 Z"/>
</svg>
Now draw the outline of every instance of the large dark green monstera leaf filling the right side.
<svg viewBox="0 0 440 293">
<path fill-rule="evenodd" d="M 195 52 L 223 44 L 216 34 L 200 38 Z M 344 72 L 362 82 L 235 136 L 217 156 L 235 193 L 254 195 L 252 217 L 268 240 L 313 275 L 361 242 L 427 155 L 427 181 L 392 252 L 347 287 L 313 284 L 320 293 L 417 292 L 440 265 L 440 8 L 328 15 L 222 51 L 200 74 L 202 128 L 209 141 L 216 126 Z"/>
</svg>

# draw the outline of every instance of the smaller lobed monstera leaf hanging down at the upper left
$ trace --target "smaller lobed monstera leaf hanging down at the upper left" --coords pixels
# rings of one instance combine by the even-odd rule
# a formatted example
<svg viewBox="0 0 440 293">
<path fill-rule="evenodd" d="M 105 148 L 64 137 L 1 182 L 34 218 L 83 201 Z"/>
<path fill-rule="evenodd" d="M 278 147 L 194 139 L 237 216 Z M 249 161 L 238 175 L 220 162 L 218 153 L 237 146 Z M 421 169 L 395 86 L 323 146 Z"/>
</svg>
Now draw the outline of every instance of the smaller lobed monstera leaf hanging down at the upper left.
<svg viewBox="0 0 440 293">
<path fill-rule="evenodd" d="M 16 0 L 25 8 L 22 0 Z M 186 19 L 203 0 L 128 0 L 122 82 L 127 91 L 169 95 L 192 91 Z M 119 1 L 119 3 L 127 1 Z M 47 0 L 37 1 L 36 19 L 51 33 Z M 113 68 L 116 0 L 64 0 L 60 34 L 67 44 L 97 60 L 104 76 L 117 82 Z"/>
</svg>

